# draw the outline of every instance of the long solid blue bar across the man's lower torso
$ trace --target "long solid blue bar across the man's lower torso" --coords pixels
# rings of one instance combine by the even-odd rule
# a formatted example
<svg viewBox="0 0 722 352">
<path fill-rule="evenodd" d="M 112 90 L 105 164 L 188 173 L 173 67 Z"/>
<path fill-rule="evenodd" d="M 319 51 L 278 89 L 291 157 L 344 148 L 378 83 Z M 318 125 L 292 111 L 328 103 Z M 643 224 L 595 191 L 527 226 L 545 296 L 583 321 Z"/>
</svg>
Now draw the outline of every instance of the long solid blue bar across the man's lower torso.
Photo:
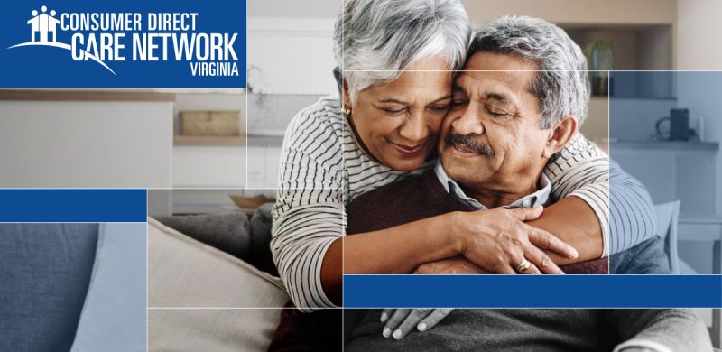
<svg viewBox="0 0 722 352">
<path fill-rule="evenodd" d="M 720 308 L 720 275 L 344 275 L 346 308 Z"/>
</svg>

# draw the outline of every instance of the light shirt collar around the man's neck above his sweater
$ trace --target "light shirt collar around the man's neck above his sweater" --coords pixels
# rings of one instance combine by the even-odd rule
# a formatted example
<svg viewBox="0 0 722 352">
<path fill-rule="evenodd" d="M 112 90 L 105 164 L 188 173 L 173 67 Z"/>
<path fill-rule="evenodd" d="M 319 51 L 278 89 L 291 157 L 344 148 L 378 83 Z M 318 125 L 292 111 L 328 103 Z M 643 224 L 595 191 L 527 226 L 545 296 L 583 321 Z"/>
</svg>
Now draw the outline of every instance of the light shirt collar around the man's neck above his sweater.
<svg viewBox="0 0 722 352">
<path fill-rule="evenodd" d="M 437 179 L 441 182 L 441 185 L 444 187 L 444 190 L 446 190 L 450 195 L 454 196 L 464 204 L 467 204 L 467 206 L 471 208 L 487 209 L 486 206 L 479 203 L 477 199 L 468 197 L 467 194 L 464 193 L 464 190 L 461 189 L 461 186 L 459 186 L 457 181 L 453 181 L 449 178 L 449 175 L 446 174 L 444 167 L 441 165 L 441 158 L 436 160 L 434 173 L 436 174 Z M 535 206 L 543 206 L 549 200 L 551 195 L 551 181 L 548 177 L 546 177 L 546 175 L 544 175 L 543 172 L 540 183 L 542 185 L 542 189 L 536 190 L 532 194 L 523 196 L 521 199 L 516 199 L 512 204 L 501 208 L 531 208 Z"/>
</svg>

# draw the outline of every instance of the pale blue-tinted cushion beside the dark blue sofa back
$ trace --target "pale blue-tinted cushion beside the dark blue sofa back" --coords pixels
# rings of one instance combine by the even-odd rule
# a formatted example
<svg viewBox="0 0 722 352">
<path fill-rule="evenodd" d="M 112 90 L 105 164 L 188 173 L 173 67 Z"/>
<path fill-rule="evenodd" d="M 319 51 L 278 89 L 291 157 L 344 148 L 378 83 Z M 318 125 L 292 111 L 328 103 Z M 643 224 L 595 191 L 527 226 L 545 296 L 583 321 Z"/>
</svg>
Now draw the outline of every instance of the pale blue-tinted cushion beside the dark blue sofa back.
<svg viewBox="0 0 722 352">
<path fill-rule="evenodd" d="M 88 296 L 71 352 L 143 351 L 145 224 L 102 224 Z"/>
</svg>

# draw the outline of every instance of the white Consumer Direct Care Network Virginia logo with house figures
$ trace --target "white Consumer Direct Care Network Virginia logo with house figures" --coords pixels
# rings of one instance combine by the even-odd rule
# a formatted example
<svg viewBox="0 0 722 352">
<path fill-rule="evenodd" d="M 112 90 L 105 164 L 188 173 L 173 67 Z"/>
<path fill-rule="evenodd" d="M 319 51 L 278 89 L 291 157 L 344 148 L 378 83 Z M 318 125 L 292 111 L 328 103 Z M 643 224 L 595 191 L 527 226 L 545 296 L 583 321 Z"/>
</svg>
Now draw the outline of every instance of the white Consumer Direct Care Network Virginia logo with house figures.
<svg viewBox="0 0 722 352">
<path fill-rule="evenodd" d="M 199 32 L 198 13 L 58 14 L 42 5 L 30 14 L 30 41 L 7 49 L 60 48 L 70 51 L 72 60 L 95 61 L 114 76 L 117 61 L 187 62 L 191 76 L 239 76 L 238 33 Z"/>
</svg>

